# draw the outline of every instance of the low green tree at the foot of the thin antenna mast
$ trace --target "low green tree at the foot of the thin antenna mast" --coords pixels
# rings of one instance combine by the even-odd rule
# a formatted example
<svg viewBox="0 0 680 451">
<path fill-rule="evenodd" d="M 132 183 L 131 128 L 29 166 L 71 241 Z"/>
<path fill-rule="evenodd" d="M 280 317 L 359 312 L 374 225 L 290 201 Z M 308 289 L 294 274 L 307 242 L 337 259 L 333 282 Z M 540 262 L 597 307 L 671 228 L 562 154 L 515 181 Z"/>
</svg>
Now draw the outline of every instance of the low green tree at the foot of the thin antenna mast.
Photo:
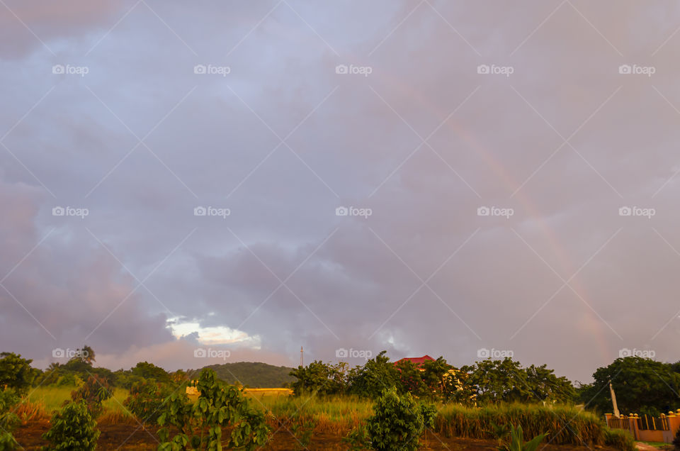
<svg viewBox="0 0 680 451">
<path fill-rule="evenodd" d="M 296 379 L 290 386 L 296 395 L 341 394 L 346 389 L 346 372 L 345 363 L 331 365 L 315 360 L 307 367 L 297 367 L 290 372 Z"/>
</svg>

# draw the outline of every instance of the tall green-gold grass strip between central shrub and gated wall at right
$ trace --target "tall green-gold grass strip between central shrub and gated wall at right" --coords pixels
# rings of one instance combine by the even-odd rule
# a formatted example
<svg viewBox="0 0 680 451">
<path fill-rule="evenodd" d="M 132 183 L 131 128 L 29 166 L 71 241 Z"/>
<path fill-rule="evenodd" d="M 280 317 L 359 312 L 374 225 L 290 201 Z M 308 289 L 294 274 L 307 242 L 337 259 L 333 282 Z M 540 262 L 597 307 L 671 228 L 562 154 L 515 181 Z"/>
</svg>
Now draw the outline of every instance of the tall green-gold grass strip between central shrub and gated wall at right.
<svg viewBox="0 0 680 451">
<path fill-rule="evenodd" d="M 604 443 L 604 421 L 572 406 L 509 404 L 469 408 L 448 404 L 439 411 L 434 432 L 446 437 L 494 438 L 492 424 L 521 425 L 528 437 L 548 433 L 546 441 L 556 445 Z"/>
</svg>

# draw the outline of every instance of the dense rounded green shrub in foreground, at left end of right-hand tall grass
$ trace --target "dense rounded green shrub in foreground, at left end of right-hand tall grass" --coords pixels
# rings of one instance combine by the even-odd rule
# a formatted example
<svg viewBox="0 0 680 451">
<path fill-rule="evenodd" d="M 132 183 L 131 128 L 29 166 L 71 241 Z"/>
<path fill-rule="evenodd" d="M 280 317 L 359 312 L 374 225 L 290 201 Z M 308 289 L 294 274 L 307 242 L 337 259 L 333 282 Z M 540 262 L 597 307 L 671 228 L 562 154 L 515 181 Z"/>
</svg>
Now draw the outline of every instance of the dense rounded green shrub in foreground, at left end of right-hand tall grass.
<svg viewBox="0 0 680 451">
<path fill-rule="evenodd" d="M 375 401 L 374 411 L 366 423 L 374 450 L 418 449 L 424 430 L 423 413 L 411 394 L 385 390 Z"/>
</svg>

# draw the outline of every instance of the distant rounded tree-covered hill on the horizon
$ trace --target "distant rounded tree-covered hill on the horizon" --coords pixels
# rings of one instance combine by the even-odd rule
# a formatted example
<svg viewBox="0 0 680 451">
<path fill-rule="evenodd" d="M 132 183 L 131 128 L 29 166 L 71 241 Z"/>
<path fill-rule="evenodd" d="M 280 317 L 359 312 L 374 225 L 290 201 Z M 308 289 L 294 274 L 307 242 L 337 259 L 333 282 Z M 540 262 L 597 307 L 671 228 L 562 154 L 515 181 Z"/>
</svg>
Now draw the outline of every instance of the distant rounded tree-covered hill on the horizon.
<svg viewBox="0 0 680 451">
<path fill-rule="evenodd" d="M 288 374 L 293 368 L 276 367 L 261 362 L 214 364 L 205 368 L 212 369 L 217 377 L 229 384 L 239 381 L 244 386 L 251 388 L 275 388 L 286 386 L 286 384 L 295 381 L 295 377 Z"/>
</svg>

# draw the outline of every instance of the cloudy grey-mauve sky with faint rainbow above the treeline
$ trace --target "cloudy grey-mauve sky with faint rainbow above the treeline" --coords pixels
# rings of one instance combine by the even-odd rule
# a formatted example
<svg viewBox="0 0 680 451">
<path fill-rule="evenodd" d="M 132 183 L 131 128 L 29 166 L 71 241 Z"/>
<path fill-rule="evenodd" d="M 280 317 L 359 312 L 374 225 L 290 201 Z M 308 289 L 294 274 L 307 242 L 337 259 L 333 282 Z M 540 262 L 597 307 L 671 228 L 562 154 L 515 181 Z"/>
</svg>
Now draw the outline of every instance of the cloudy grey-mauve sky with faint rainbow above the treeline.
<svg viewBox="0 0 680 451">
<path fill-rule="evenodd" d="M 676 362 L 679 30 L 667 1 L 0 0 L 0 348 Z"/>
</svg>

